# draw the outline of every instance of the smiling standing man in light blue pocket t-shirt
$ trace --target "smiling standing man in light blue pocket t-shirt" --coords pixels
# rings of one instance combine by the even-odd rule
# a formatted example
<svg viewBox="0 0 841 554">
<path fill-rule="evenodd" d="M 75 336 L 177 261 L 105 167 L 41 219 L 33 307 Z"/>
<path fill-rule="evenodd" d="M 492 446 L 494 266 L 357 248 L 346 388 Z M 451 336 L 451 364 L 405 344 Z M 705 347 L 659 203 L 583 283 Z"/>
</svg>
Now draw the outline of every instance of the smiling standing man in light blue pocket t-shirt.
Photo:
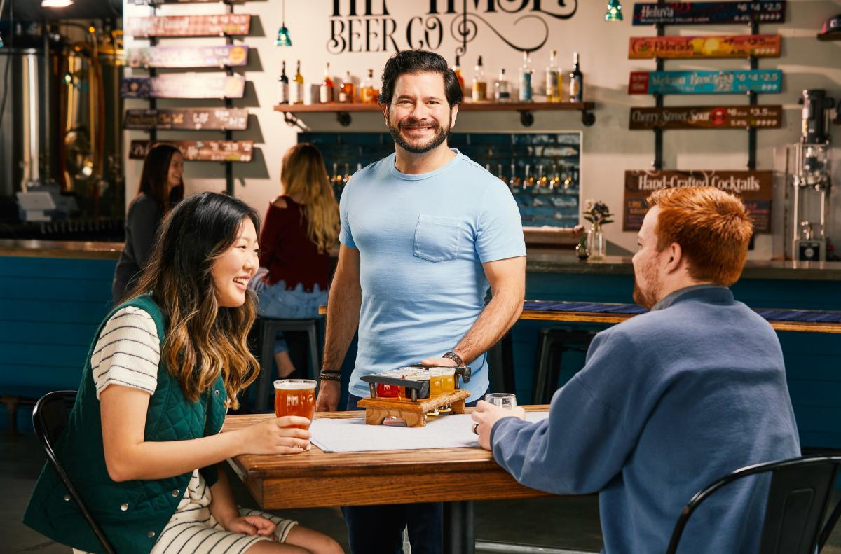
<svg viewBox="0 0 841 554">
<path fill-rule="evenodd" d="M 468 403 L 488 389 L 485 352 L 522 309 L 526 245 L 505 183 L 447 146 L 461 100 L 440 55 L 405 50 L 383 70 L 379 102 L 395 152 L 357 171 L 341 195 L 318 410 L 338 407 L 357 326 L 348 409 L 368 396 L 362 375 L 418 361 L 472 367 Z M 415 554 L 440 552 L 441 513 L 441 504 L 346 508 L 351 550 L 399 553 L 408 526 Z"/>
</svg>

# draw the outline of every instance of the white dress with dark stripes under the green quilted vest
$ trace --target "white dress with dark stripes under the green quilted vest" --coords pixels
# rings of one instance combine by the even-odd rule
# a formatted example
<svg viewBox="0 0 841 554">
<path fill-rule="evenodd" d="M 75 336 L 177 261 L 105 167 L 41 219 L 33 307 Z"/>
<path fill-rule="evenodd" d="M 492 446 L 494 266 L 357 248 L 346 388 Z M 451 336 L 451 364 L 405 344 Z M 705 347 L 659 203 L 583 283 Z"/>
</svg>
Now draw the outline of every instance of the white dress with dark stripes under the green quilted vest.
<svg viewBox="0 0 841 554">
<path fill-rule="evenodd" d="M 110 384 L 155 393 L 158 362 L 161 359 L 159 345 L 155 321 L 145 310 L 129 306 L 108 319 L 91 356 L 97 398 Z M 172 519 L 152 548 L 152 554 L 238 554 L 245 552 L 257 541 L 285 541 L 289 530 L 297 524 L 259 510 L 240 509 L 241 515 L 262 515 L 272 520 L 278 528 L 271 537 L 232 533 L 222 529 L 210 514 L 212 499 L 204 477 L 198 469 L 194 470 Z M 73 551 L 82 554 L 81 551 Z"/>
</svg>

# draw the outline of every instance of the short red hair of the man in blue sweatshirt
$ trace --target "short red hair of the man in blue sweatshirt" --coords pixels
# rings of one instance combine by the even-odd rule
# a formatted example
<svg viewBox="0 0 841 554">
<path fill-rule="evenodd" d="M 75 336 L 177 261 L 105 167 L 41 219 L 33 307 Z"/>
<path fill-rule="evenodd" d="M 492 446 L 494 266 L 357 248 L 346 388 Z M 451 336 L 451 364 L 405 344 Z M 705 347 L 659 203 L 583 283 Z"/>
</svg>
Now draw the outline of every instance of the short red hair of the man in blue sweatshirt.
<svg viewBox="0 0 841 554">
<path fill-rule="evenodd" d="M 661 188 L 646 200 L 659 206 L 657 250 L 676 242 L 690 277 L 729 287 L 748 257 L 754 222 L 742 201 L 716 187 Z"/>
</svg>

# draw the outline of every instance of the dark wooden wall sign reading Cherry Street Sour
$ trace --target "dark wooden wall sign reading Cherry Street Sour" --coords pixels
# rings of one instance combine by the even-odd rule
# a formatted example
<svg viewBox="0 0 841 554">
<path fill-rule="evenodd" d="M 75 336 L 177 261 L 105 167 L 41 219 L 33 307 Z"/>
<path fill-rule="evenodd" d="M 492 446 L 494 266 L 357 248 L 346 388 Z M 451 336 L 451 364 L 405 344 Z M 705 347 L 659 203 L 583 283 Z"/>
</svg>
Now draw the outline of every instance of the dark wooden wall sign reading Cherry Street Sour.
<svg viewBox="0 0 841 554">
<path fill-rule="evenodd" d="M 782 106 L 631 108 L 629 129 L 780 129 L 782 115 Z"/>
</svg>

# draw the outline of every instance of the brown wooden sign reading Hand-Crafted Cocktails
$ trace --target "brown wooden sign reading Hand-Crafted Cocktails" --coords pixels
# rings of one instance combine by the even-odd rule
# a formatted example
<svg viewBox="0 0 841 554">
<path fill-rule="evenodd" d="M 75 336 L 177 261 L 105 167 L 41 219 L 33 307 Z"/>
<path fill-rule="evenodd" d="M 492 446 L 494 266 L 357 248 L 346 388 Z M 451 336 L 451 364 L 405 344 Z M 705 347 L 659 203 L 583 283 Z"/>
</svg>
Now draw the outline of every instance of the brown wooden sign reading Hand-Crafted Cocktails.
<svg viewBox="0 0 841 554">
<path fill-rule="evenodd" d="M 660 188 L 717 187 L 742 198 L 754 231 L 771 232 L 771 200 L 774 198 L 773 171 L 625 171 L 625 199 L 622 203 L 623 231 L 637 231 L 648 211 L 645 199 Z"/>
</svg>

